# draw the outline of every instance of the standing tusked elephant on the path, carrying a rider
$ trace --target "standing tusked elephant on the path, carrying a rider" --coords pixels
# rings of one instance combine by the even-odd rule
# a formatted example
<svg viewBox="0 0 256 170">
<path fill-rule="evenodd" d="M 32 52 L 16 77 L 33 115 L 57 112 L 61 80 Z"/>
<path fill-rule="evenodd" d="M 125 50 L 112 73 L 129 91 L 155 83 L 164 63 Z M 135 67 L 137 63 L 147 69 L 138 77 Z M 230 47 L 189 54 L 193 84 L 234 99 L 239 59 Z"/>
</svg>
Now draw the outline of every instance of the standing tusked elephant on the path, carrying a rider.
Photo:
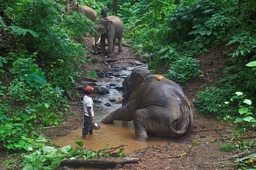
<svg viewBox="0 0 256 170">
<path fill-rule="evenodd" d="M 103 18 L 97 19 L 95 21 L 95 30 L 97 31 L 94 36 L 94 41 L 97 42 L 100 38 L 100 53 L 101 55 L 106 55 L 106 38 L 108 39 L 108 57 L 113 57 L 115 55 L 115 39 L 118 39 L 118 52 L 123 51 L 122 38 L 124 32 L 123 21 L 116 16 L 109 16 L 108 20 Z M 94 53 L 97 52 L 98 45 L 94 46 Z"/>
</svg>

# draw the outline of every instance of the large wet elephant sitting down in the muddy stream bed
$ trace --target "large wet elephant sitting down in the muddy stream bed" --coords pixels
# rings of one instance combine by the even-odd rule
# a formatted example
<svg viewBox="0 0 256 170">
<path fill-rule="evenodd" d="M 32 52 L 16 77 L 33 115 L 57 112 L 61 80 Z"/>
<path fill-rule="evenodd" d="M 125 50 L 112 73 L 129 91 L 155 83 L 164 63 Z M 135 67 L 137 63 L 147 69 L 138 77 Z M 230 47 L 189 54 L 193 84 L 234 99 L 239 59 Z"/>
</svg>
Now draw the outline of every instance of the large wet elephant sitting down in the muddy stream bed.
<svg viewBox="0 0 256 170">
<path fill-rule="evenodd" d="M 136 140 L 147 141 L 148 133 L 179 137 L 193 125 L 195 110 L 191 100 L 179 85 L 167 78 L 157 80 L 148 69 L 138 67 L 123 82 L 123 106 L 102 120 L 132 121 Z"/>
</svg>

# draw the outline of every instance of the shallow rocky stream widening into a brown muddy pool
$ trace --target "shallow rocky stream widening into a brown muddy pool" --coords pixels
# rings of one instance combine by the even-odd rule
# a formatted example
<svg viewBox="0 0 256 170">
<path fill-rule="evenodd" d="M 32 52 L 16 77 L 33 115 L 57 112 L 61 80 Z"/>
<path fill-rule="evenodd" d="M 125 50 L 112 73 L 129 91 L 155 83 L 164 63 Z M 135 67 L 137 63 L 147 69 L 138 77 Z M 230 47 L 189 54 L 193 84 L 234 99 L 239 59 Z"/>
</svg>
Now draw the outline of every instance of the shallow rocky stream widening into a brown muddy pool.
<svg viewBox="0 0 256 170">
<path fill-rule="evenodd" d="M 125 153 L 132 152 L 133 150 L 145 148 L 147 146 L 153 144 L 161 144 L 164 145 L 170 138 L 161 138 L 157 136 L 150 136 L 148 141 L 141 142 L 135 141 L 135 134 L 134 134 L 134 125 L 132 122 L 122 122 L 122 121 L 115 121 L 114 124 L 102 124 L 100 121 L 102 118 L 106 117 L 108 113 L 111 111 L 120 108 L 122 104 L 115 104 L 110 103 L 109 99 L 118 99 L 122 96 L 122 92 L 118 91 L 115 87 L 110 86 L 110 83 L 115 84 L 122 84 L 124 78 L 129 75 L 134 68 L 129 68 L 125 71 L 116 71 L 111 78 L 100 78 L 97 81 L 97 85 L 100 87 L 105 87 L 109 90 L 109 94 L 104 96 L 100 96 L 100 108 L 101 111 L 95 113 L 95 122 L 98 122 L 100 125 L 100 129 L 97 131 L 93 131 L 92 135 L 87 135 L 86 139 L 81 138 L 81 131 L 83 127 L 79 127 L 76 130 L 70 132 L 67 136 L 59 137 L 52 141 L 52 143 L 58 146 L 76 146 L 75 141 L 83 141 L 84 146 L 89 148 L 90 150 L 102 150 L 106 148 L 108 144 L 111 148 L 121 145 L 125 146 Z M 116 78 L 115 74 L 119 75 L 119 78 Z M 121 78 L 120 78 L 121 77 Z M 93 97 L 93 96 L 92 96 Z M 110 103 L 111 106 L 104 106 L 104 104 Z"/>
</svg>

